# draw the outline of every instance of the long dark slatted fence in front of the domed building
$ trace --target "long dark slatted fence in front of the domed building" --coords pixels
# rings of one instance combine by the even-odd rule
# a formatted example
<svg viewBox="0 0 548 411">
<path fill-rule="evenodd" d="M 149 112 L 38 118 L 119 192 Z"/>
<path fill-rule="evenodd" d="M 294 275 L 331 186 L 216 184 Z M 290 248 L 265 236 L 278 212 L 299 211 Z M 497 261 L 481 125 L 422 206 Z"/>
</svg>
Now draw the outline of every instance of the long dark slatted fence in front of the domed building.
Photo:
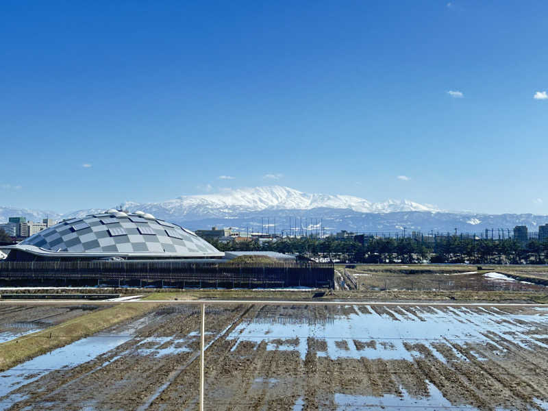
<svg viewBox="0 0 548 411">
<path fill-rule="evenodd" d="M 183 287 L 332 287 L 327 263 L 197 263 L 160 261 L 0 262 L 0 279 L 40 282 L 162 282 Z"/>
</svg>

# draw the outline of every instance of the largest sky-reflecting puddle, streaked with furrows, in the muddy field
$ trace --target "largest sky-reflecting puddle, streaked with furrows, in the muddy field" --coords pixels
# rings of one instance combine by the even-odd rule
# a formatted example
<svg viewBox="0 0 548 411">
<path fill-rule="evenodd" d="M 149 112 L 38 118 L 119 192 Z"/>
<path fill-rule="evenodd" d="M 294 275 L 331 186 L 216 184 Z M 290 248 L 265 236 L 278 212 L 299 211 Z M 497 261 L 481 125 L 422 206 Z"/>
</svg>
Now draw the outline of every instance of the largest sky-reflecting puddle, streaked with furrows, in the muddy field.
<svg viewBox="0 0 548 411">
<path fill-rule="evenodd" d="M 227 339 L 236 339 L 235 351 L 241 341 L 266 342 L 267 350 L 297 351 L 302 360 L 308 352 L 308 338 L 325 341 L 316 347 L 316 355 L 331 358 L 370 358 L 382 360 L 413 360 L 424 356 L 416 351 L 426 347 L 429 354 L 442 362 L 464 360 L 454 345 L 486 346 L 490 354 L 506 353 L 507 347 L 548 349 L 540 341 L 544 335 L 531 334 L 548 324 L 548 316 L 510 314 L 497 308 L 482 307 L 382 307 L 366 306 L 362 312 L 345 307 L 349 314 L 340 314 L 332 321 L 314 323 L 295 321 L 248 321 L 238 324 Z M 316 345 L 318 346 L 318 345 Z M 419 346 L 419 347 L 417 347 Z M 445 352 L 445 355 L 444 355 Z M 486 360 L 485 353 L 472 351 L 477 360 Z"/>
</svg>

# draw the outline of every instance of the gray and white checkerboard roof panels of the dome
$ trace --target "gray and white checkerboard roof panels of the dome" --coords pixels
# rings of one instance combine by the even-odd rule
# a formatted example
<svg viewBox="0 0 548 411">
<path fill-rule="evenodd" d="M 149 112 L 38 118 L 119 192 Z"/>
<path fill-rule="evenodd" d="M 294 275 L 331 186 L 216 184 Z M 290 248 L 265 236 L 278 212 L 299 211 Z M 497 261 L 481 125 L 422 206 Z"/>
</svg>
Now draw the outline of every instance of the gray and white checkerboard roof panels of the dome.
<svg viewBox="0 0 548 411">
<path fill-rule="evenodd" d="M 47 251 L 71 253 L 177 253 L 219 256 L 196 234 L 158 219 L 95 214 L 49 227 L 21 242 Z"/>
</svg>

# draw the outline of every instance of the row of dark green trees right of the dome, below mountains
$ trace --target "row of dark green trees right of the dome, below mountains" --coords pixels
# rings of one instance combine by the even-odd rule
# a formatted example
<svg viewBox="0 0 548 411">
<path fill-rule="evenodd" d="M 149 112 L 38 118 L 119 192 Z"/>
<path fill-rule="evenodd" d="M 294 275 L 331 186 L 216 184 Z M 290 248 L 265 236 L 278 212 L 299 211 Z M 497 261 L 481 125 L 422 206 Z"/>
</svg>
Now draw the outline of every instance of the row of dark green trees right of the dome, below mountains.
<svg viewBox="0 0 548 411">
<path fill-rule="evenodd" d="M 282 238 L 262 244 L 258 241 L 209 242 L 220 251 L 277 251 L 341 262 L 545 264 L 548 260 L 548 240 L 522 243 L 511 238 L 492 240 L 440 236 L 431 241 L 420 238 L 371 238 L 362 243 L 330 236 L 321 239 Z"/>
</svg>

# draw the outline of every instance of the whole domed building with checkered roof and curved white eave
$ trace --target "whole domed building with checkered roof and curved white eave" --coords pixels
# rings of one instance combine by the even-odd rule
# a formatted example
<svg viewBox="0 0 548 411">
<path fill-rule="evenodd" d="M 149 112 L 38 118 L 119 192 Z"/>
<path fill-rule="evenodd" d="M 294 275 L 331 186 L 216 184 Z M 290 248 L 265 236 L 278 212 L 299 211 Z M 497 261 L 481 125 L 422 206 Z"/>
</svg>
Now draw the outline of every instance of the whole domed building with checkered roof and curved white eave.
<svg viewBox="0 0 548 411">
<path fill-rule="evenodd" d="M 66 219 L 17 245 L 0 246 L 14 261 L 222 258 L 224 253 L 184 227 L 151 214 L 108 210 Z"/>
</svg>

